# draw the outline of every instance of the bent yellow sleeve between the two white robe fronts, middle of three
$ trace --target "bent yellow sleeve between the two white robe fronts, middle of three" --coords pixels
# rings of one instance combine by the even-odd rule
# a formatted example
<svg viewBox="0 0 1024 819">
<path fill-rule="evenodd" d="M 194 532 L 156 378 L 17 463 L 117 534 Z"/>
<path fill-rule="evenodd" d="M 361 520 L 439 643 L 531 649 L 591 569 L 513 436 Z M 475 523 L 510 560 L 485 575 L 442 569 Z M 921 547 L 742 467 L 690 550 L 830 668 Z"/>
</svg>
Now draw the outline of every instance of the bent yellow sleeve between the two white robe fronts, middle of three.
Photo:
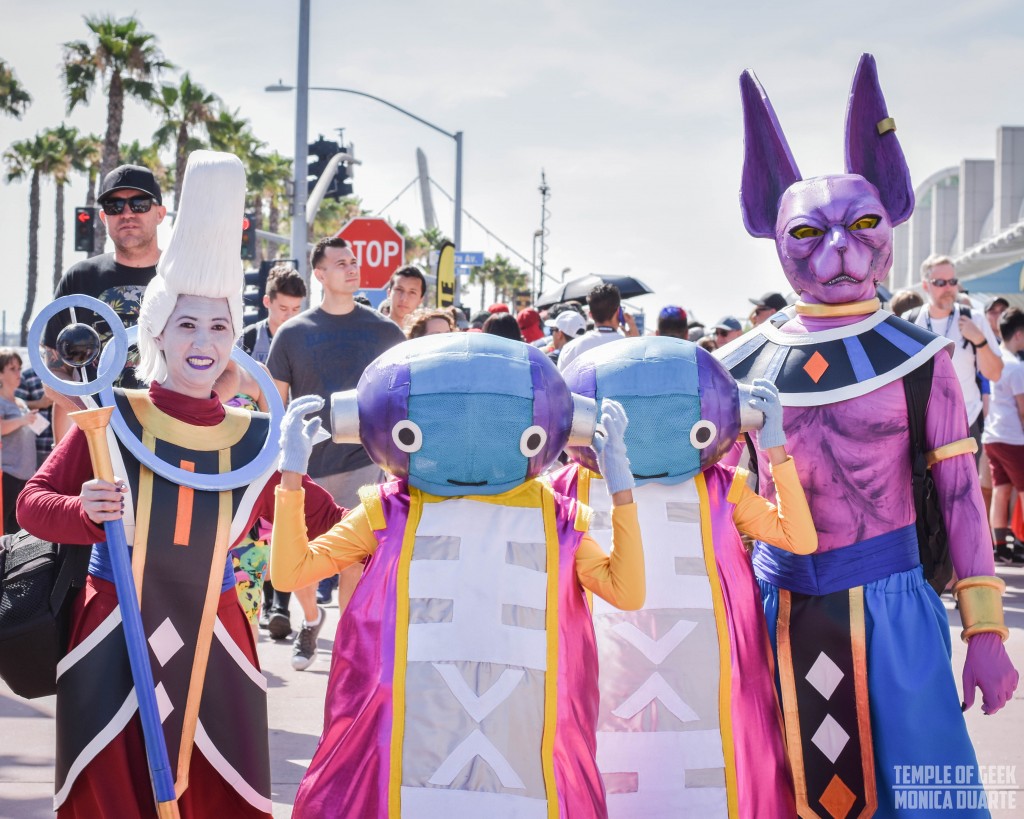
<svg viewBox="0 0 1024 819">
<path fill-rule="evenodd" d="M 606 555 L 597 541 L 584 534 L 575 567 L 584 589 L 611 605 L 627 611 L 643 606 L 647 590 L 636 504 L 611 508 L 611 554 Z"/>
</svg>

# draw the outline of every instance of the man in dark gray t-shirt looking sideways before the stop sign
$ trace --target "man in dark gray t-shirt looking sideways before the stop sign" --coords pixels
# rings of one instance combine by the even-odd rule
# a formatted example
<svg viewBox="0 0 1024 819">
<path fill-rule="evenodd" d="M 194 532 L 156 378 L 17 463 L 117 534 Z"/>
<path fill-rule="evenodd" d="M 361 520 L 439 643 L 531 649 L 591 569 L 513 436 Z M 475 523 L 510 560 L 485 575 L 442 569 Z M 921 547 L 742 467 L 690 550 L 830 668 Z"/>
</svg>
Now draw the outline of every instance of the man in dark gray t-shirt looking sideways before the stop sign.
<svg viewBox="0 0 1024 819">
<path fill-rule="evenodd" d="M 319 395 L 321 418 L 331 429 L 331 393 L 352 389 L 367 364 L 406 337 L 383 315 L 355 303 L 359 264 L 343 239 L 322 239 L 309 257 L 316 281 L 324 286 L 324 301 L 289 319 L 273 335 L 266 365 L 282 400 Z M 291 393 L 291 396 L 289 396 Z M 346 509 L 359 505 L 359 486 L 377 483 L 382 473 L 358 445 L 328 440 L 313 447 L 309 476 Z M 345 569 L 338 587 L 338 609 L 345 610 L 361 566 Z M 292 667 L 308 669 L 316 658 L 316 637 L 324 626 L 324 611 L 316 605 L 314 587 L 299 589 L 295 598 L 304 619 L 295 638 Z"/>
</svg>

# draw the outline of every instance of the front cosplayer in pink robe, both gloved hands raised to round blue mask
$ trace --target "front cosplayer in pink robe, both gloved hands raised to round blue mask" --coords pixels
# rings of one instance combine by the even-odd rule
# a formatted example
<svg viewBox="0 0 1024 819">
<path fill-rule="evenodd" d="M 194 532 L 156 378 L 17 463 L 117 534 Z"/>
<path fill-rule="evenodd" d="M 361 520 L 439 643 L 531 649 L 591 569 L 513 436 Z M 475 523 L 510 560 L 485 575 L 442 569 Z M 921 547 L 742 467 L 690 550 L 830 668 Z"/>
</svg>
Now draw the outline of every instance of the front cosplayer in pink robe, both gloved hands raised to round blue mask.
<svg viewBox="0 0 1024 819">
<path fill-rule="evenodd" d="M 539 349 L 478 334 L 415 339 L 332 400 L 336 441 L 395 479 L 307 543 L 294 491 L 319 399 L 289 407 L 271 546 L 276 588 L 366 560 L 335 641 L 324 734 L 296 817 L 603 817 L 597 650 L 585 590 L 643 603 L 622 407 L 602 406 L 611 557 L 590 510 L 542 475 L 594 438 Z"/>
</svg>

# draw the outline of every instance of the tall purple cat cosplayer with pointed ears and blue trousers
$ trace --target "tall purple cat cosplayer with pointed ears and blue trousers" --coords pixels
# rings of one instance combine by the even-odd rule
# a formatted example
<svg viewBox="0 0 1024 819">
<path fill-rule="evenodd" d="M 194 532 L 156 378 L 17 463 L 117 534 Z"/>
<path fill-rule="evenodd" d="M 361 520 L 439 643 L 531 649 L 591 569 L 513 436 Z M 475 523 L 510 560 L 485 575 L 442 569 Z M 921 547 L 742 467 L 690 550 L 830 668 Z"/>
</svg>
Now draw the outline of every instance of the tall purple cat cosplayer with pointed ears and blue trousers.
<svg viewBox="0 0 1024 819">
<path fill-rule="evenodd" d="M 980 688 L 982 709 L 995 713 L 1018 675 L 1002 645 L 1004 584 L 994 576 L 975 443 L 947 342 L 880 309 L 876 298 L 892 264 L 893 225 L 909 218 L 913 188 L 874 59 L 864 54 L 854 77 L 845 174 L 803 179 L 751 72 L 740 90 L 743 221 L 752 235 L 775 240 L 800 301 L 717 355 L 738 381 L 767 378 L 778 387 L 818 531 L 814 555 L 762 543 L 754 551 L 798 812 L 921 816 L 898 773 L 929 766 L 975 774 L 970 787 L 936 791 L 931 807 L 942 816 L 988 816 L 950 667 L 946 612 L 922 568 L 923 555 L 930 568 L 935 556 L 919 543 L 915 448 L 930 466 L 959 577 L 964 707 Z M 924 400 L 909 398 L 922 389 Z M 923 430 L 920 447 L 914 428 Z M 762 467 L 764 460 L 759 455 Z M 760 472 L 770 497 L 767 471 Z"/>
</svg>

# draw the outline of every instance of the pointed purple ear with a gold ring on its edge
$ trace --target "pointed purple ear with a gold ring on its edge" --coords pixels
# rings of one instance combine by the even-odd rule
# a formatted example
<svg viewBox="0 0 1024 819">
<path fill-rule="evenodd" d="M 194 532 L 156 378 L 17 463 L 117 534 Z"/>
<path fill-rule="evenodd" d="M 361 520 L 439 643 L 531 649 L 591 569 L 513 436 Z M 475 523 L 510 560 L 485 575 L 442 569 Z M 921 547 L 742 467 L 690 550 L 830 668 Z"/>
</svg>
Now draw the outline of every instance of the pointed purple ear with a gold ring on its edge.
<svg viewBox="0 0 1024 819">
<path fill-rule="evenodd" d="M 862 54 L 846 112 L 846 170 L 863 176 L 879 189 L 893 225 L 913 213 L 913 185 L 896 123 L 886 109 L 879 72 L 871 54 Z"/>
</svg>

